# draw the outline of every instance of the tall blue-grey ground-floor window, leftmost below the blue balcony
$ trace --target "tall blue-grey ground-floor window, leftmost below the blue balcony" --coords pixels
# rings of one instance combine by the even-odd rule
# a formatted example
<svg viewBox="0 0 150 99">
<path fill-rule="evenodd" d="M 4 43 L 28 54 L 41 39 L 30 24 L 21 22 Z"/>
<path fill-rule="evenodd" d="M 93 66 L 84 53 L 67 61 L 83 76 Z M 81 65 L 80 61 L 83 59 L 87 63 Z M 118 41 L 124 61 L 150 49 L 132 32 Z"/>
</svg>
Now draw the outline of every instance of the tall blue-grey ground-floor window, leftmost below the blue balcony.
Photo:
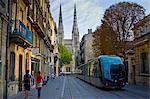
<svg viewBox="0 0 150 99">
<path fill-rule="evenodd" d="M 10 53 L 10 76 L 9 76 L 11 81 L 15 80 L 14 73 L 15 73 L 15 53 L 11 52 Z"/>
</svg>

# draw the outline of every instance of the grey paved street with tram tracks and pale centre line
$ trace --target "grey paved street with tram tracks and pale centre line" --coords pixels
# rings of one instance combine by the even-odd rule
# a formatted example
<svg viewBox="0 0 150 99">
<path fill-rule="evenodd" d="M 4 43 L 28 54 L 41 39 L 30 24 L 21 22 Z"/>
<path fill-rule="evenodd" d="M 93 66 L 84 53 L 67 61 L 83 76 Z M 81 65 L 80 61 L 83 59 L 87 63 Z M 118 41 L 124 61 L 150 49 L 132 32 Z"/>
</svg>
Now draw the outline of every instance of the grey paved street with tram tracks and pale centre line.
<svg viewBox="0 0 150 99">
<path fill-rule="evenodd" d="M 91 86 L 74 76 L 58 77 L 50 80 L 42 89 L 41 99 L 150 99 L 147 87 L 127 85 L 122 90 L 102 90 Z M 29 99 L 36 99 L 32 89 Z M 9 99 L 23 99 L 23 93 Z"/>
</svg>

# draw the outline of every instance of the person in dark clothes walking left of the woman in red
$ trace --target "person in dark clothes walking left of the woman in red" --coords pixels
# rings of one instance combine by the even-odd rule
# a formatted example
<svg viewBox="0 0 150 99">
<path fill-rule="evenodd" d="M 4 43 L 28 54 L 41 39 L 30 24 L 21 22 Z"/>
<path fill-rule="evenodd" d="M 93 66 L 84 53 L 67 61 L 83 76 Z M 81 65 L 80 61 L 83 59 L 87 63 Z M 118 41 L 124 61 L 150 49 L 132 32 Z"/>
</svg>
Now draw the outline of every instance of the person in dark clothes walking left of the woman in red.
<svg viewBox="0 0 150 99">
<path fill-rule="evenodd" d="M 25 94 L 25 99 L 28 98 L 29 96 L 29 91 L 31 88 L 31 75 L 29 74 L 29 70 L 26 70 L 26 74 L 24 75 L 24 94 Z"/>
</svg>

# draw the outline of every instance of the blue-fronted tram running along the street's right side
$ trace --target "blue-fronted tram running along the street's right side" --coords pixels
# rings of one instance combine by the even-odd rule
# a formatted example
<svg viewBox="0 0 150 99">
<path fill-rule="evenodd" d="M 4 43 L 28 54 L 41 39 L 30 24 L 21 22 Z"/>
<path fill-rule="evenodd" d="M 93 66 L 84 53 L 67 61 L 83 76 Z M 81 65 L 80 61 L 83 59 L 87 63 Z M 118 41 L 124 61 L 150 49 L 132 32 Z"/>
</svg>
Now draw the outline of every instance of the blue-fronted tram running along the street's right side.
<svg viewBox="0 0 150 99">
<path fill-rule="evenodd" d="M 76 68 L 77 77 L 97 87 L 123 88 L 126 84 L 126 67 L 118 56 L 100 55 Z"/>
</svg>

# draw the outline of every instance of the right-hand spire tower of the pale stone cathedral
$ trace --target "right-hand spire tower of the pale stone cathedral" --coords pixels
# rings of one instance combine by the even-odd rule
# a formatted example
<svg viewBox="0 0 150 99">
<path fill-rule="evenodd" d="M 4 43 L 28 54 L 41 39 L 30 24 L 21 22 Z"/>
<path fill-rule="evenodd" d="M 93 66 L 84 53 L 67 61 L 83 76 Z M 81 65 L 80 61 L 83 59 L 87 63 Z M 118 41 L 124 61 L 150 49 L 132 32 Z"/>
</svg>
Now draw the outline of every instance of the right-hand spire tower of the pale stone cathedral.
<svg viewBox="0 0 150 99">
<path fill-rule="evenodd" d="M 79 30 L 77 24 L 77 12 L 76 5 L 74 5 L 74 19 L 73 19 L 73 29 L 72 29 L 72 47 L 74 57 L 77 55 L 79 50 Z"/>
</svg>

